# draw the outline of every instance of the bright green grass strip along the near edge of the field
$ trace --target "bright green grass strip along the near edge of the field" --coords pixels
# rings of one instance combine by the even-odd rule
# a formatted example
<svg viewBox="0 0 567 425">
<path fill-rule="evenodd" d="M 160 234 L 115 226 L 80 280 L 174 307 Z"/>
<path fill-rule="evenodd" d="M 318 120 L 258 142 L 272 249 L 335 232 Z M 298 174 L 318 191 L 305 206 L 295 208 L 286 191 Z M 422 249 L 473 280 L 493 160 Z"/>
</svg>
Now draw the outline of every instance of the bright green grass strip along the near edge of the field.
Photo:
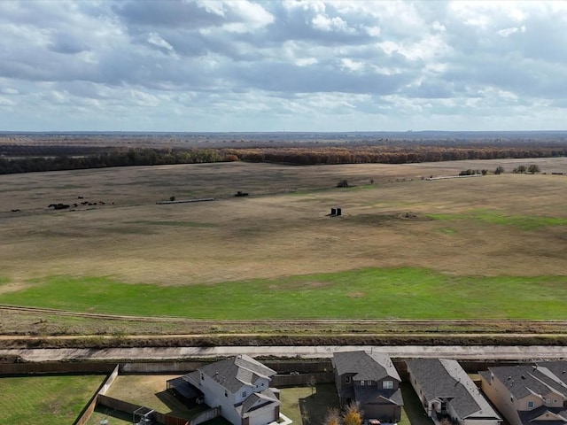
<svg viewBox="0 0 567 425">
<path fill-rule="evenodd" d="M 451 276 L 421 268 L 367 268 L 186 287 L 58 276 L 6 292 L 0 303 L 198 319 L 565 320 L 567 276 Z"/>
</svg>

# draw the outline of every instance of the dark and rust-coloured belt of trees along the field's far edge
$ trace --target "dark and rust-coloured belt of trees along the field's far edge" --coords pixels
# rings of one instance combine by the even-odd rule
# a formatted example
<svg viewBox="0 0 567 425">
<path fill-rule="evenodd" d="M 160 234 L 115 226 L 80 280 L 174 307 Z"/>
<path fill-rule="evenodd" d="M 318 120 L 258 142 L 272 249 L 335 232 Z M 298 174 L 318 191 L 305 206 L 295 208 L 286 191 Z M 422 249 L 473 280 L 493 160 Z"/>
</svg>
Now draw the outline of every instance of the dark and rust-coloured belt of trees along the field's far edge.
<svg viewBox="0 0 567 425">
<path fill-rule="evenodd" d="M 3 147 L 4 150 L 5 146 Z M 57 147 L 56 147 L 57 148 Z M 102 168 L 108 166 L 158 166 L 198 164 L 222 161 L 271 162 L 293 165 L 316 164 L 406 164 L 463 159 L 550 158 L 567 155 L 567 143 L 518 143 L 490 146 L 478 143 L 464 146 L 400 143 L 342 146 L 255 147 L 255 148 L 190 148 L 101 151 L 103 148 L 70 147 L 19 149 L 19 156 L 10 158 L 3 152 L 0 174 L 38 171 Z M 104 148 L 108 150 L 108 148 Z M 14 152 L 10 152 L 14 153 Z"/>
</svg>

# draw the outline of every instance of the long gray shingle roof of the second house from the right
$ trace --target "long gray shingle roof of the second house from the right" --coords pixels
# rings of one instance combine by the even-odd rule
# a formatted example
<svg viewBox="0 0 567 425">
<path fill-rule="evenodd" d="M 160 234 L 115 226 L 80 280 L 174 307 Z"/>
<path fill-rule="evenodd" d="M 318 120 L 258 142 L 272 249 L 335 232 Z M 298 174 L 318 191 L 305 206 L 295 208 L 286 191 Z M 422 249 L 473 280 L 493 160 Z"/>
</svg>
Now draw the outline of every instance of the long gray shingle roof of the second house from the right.
<svg viewBox="0 0 567 425">
<path fill-rule="evenodd" d="M 410 359 L 407 364 L 428 401 L 446 398 L 461 419 L 500 419 L 456 360 Z"/>
</svg>

